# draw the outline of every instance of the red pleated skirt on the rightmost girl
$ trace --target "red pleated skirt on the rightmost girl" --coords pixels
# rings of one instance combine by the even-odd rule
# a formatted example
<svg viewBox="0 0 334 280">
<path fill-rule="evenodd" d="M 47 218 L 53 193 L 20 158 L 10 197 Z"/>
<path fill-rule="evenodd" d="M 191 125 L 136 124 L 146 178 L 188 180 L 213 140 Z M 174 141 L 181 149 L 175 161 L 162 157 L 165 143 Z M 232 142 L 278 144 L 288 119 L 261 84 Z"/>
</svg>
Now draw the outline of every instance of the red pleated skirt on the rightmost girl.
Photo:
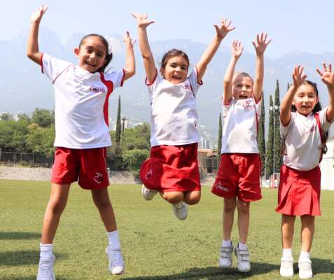
<svg viewBox="0 0 334 280">
<path fill-rule="evenodd" d="M 320 216 L 319 167 L 298 171 L 282 165 L 276 211 L 291 216 Z"/>
</svg>

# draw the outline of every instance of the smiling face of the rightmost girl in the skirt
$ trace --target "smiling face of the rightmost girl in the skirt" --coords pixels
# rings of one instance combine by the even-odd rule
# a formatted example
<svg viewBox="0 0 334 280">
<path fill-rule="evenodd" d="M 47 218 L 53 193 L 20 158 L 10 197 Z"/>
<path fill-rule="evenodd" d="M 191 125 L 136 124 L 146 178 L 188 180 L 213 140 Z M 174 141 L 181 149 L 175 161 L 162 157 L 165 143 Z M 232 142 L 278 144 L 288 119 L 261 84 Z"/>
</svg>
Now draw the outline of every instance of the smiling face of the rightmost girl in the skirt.
<svg viewBox="0 0 334 280">
<path fill-rule="evenodd" d="M 293 97 L 293 105 L 298 113 L 301 113 L 304 116 L 309 115 L 314 109 L 314 106 L 319 102 L 318 97 L 316 96 L 316 91 L 312 85 L 307 83 L 300 85 L 295 96 Z"/>
</svg>

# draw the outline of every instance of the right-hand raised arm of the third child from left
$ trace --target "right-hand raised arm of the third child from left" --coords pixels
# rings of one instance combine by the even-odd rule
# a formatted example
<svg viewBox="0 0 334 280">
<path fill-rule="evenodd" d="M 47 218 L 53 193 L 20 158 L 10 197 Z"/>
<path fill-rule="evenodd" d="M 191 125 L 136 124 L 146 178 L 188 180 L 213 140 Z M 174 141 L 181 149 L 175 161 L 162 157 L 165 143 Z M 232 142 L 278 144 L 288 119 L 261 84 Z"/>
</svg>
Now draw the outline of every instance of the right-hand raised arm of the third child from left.
<svg viewBox="0 0 334 280">
<path fill-rule="evenodd" d="M 270 42 L 271 40 L 267 41 L 267 34 L 264 33 L 257 34 L 256 41 L 252 42 L 256 50 L 255 80 L 253 85 L 253 94 L 256 102 L 262 98 L 263 76 L 265 71 L 263 54 Z"/>
</svg>

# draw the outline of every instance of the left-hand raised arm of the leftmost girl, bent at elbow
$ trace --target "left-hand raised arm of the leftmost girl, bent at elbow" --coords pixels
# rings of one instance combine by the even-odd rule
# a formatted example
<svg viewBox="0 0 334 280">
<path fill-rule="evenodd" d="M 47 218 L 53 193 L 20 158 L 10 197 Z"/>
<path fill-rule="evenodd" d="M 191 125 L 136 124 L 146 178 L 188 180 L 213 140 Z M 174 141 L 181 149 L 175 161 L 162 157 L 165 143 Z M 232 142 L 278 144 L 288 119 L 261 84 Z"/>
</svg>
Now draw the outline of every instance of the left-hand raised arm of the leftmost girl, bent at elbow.
<svg viewBox="0 0 334 280">
<path fill-rule="evenodd" d="M 42 53 L 39 52 L 39 23 L 46 10 L 48 10 L 47 6 L 41 6 L 32 14 L 28 35 L 27 57 L 39 65 L 42 57 Z"/>
</svg>

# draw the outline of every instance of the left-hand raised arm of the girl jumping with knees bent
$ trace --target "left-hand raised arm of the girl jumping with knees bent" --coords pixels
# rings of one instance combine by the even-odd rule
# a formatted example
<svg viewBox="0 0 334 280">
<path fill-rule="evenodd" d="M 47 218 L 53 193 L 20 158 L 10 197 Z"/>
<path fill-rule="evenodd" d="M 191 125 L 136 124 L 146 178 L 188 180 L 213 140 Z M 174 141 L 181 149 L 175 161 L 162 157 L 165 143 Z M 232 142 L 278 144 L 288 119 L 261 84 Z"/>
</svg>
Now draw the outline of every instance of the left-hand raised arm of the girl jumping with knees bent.
<svg viewBox="0 0 334 280">
<path fill-rule="evenodd" d="M 137 20 L 138 24 L 139 48 L 141 51 L 141 56 L 144 60 L 147 82 L 152 83 L 155 75 L 157 74 L 157 68 L 155 67 L 154 57 L 151 52 L 150 44 L 148 43 L 146 28 L 154 21 L 147 20 L 147 14 L 134 12 L 131 15 L 133 15 L 133 17 Z"/>
</svg>

